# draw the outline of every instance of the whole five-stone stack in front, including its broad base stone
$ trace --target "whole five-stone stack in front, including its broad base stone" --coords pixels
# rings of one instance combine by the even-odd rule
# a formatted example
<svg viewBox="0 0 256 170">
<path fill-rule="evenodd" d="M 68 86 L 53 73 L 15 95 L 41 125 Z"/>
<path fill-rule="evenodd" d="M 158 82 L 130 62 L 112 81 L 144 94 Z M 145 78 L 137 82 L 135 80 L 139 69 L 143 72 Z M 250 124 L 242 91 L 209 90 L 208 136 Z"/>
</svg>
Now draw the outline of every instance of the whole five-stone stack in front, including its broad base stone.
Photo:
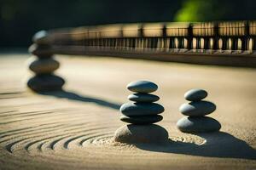
<svg viewBox="0 0 256 170">
<path fill-rule="evenodd" d="M 120 127 L 114 135 L 114 140 L 121 143 L 161 143 L 168 140 L 166 129 L 154 122 L 160 122 L 163 116 L 159 114 L 165 111 L 162 105 L 154 103 L 160 98 L 149 94 L 157 90 L 154 82 L 131 82 L 127 88 L 136 94 L 130 94 L 128 99 L 132 103 L 121 105 L 120 120 L 131 124 Z"/>
</svg>

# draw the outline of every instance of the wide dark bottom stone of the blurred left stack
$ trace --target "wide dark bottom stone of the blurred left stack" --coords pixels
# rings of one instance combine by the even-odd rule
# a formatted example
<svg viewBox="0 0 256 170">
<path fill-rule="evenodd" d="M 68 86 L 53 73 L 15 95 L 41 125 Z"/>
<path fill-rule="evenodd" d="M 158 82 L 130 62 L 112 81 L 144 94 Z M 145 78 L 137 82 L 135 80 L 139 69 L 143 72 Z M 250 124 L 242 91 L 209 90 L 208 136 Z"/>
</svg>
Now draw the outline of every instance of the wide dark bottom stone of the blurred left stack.
<svg viewBox="0 0 256 170">
<path fill-rule="evenodd" d="M 33 91 L 43 92 L 43 91 L 53 91 L 61 90 L 65 81 L 63 78 L 47 74 L 47 75 L 36 75 L 28 80 L 27 86 Z"/>
</svg>

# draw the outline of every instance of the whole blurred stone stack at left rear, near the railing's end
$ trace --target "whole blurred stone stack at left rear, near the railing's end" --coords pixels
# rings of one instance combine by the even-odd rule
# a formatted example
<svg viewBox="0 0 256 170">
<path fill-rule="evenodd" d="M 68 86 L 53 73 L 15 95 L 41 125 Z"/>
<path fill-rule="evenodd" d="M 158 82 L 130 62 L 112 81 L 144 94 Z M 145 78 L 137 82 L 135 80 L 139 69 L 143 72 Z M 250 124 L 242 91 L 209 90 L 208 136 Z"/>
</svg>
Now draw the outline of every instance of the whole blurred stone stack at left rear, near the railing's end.
<svg viewBox="0 0 256 170">
<path fill-rule="evenodd" d="M 36 58 L 30 59 L 29 69 L 35 76 L 28 80 L 27 86 L 37 92 L 60 90 L 65 81 L 54 74 L 60 63 L 53 59 L 47 32 L 39 31 L 32 40 L 34 44 L 29 48 L 29 52 Z"/>
</svg>

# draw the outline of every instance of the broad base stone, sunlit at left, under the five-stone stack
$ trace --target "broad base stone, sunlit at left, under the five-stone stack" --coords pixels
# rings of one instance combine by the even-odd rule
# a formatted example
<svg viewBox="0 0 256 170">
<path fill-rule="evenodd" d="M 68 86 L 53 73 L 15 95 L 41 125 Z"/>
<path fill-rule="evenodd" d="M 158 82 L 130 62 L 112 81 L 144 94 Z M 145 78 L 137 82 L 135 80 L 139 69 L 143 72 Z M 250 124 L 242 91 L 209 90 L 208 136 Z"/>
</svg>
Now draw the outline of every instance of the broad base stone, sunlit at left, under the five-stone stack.
<svg viewBox="0 0 256 170">
<path fill-rule="evenodd" d="M 161 144 L 168 142 L 168 132 L 159 125 L 125 125 L 114 133 L 113 140 L 126 144 Z"/>
</svg>

